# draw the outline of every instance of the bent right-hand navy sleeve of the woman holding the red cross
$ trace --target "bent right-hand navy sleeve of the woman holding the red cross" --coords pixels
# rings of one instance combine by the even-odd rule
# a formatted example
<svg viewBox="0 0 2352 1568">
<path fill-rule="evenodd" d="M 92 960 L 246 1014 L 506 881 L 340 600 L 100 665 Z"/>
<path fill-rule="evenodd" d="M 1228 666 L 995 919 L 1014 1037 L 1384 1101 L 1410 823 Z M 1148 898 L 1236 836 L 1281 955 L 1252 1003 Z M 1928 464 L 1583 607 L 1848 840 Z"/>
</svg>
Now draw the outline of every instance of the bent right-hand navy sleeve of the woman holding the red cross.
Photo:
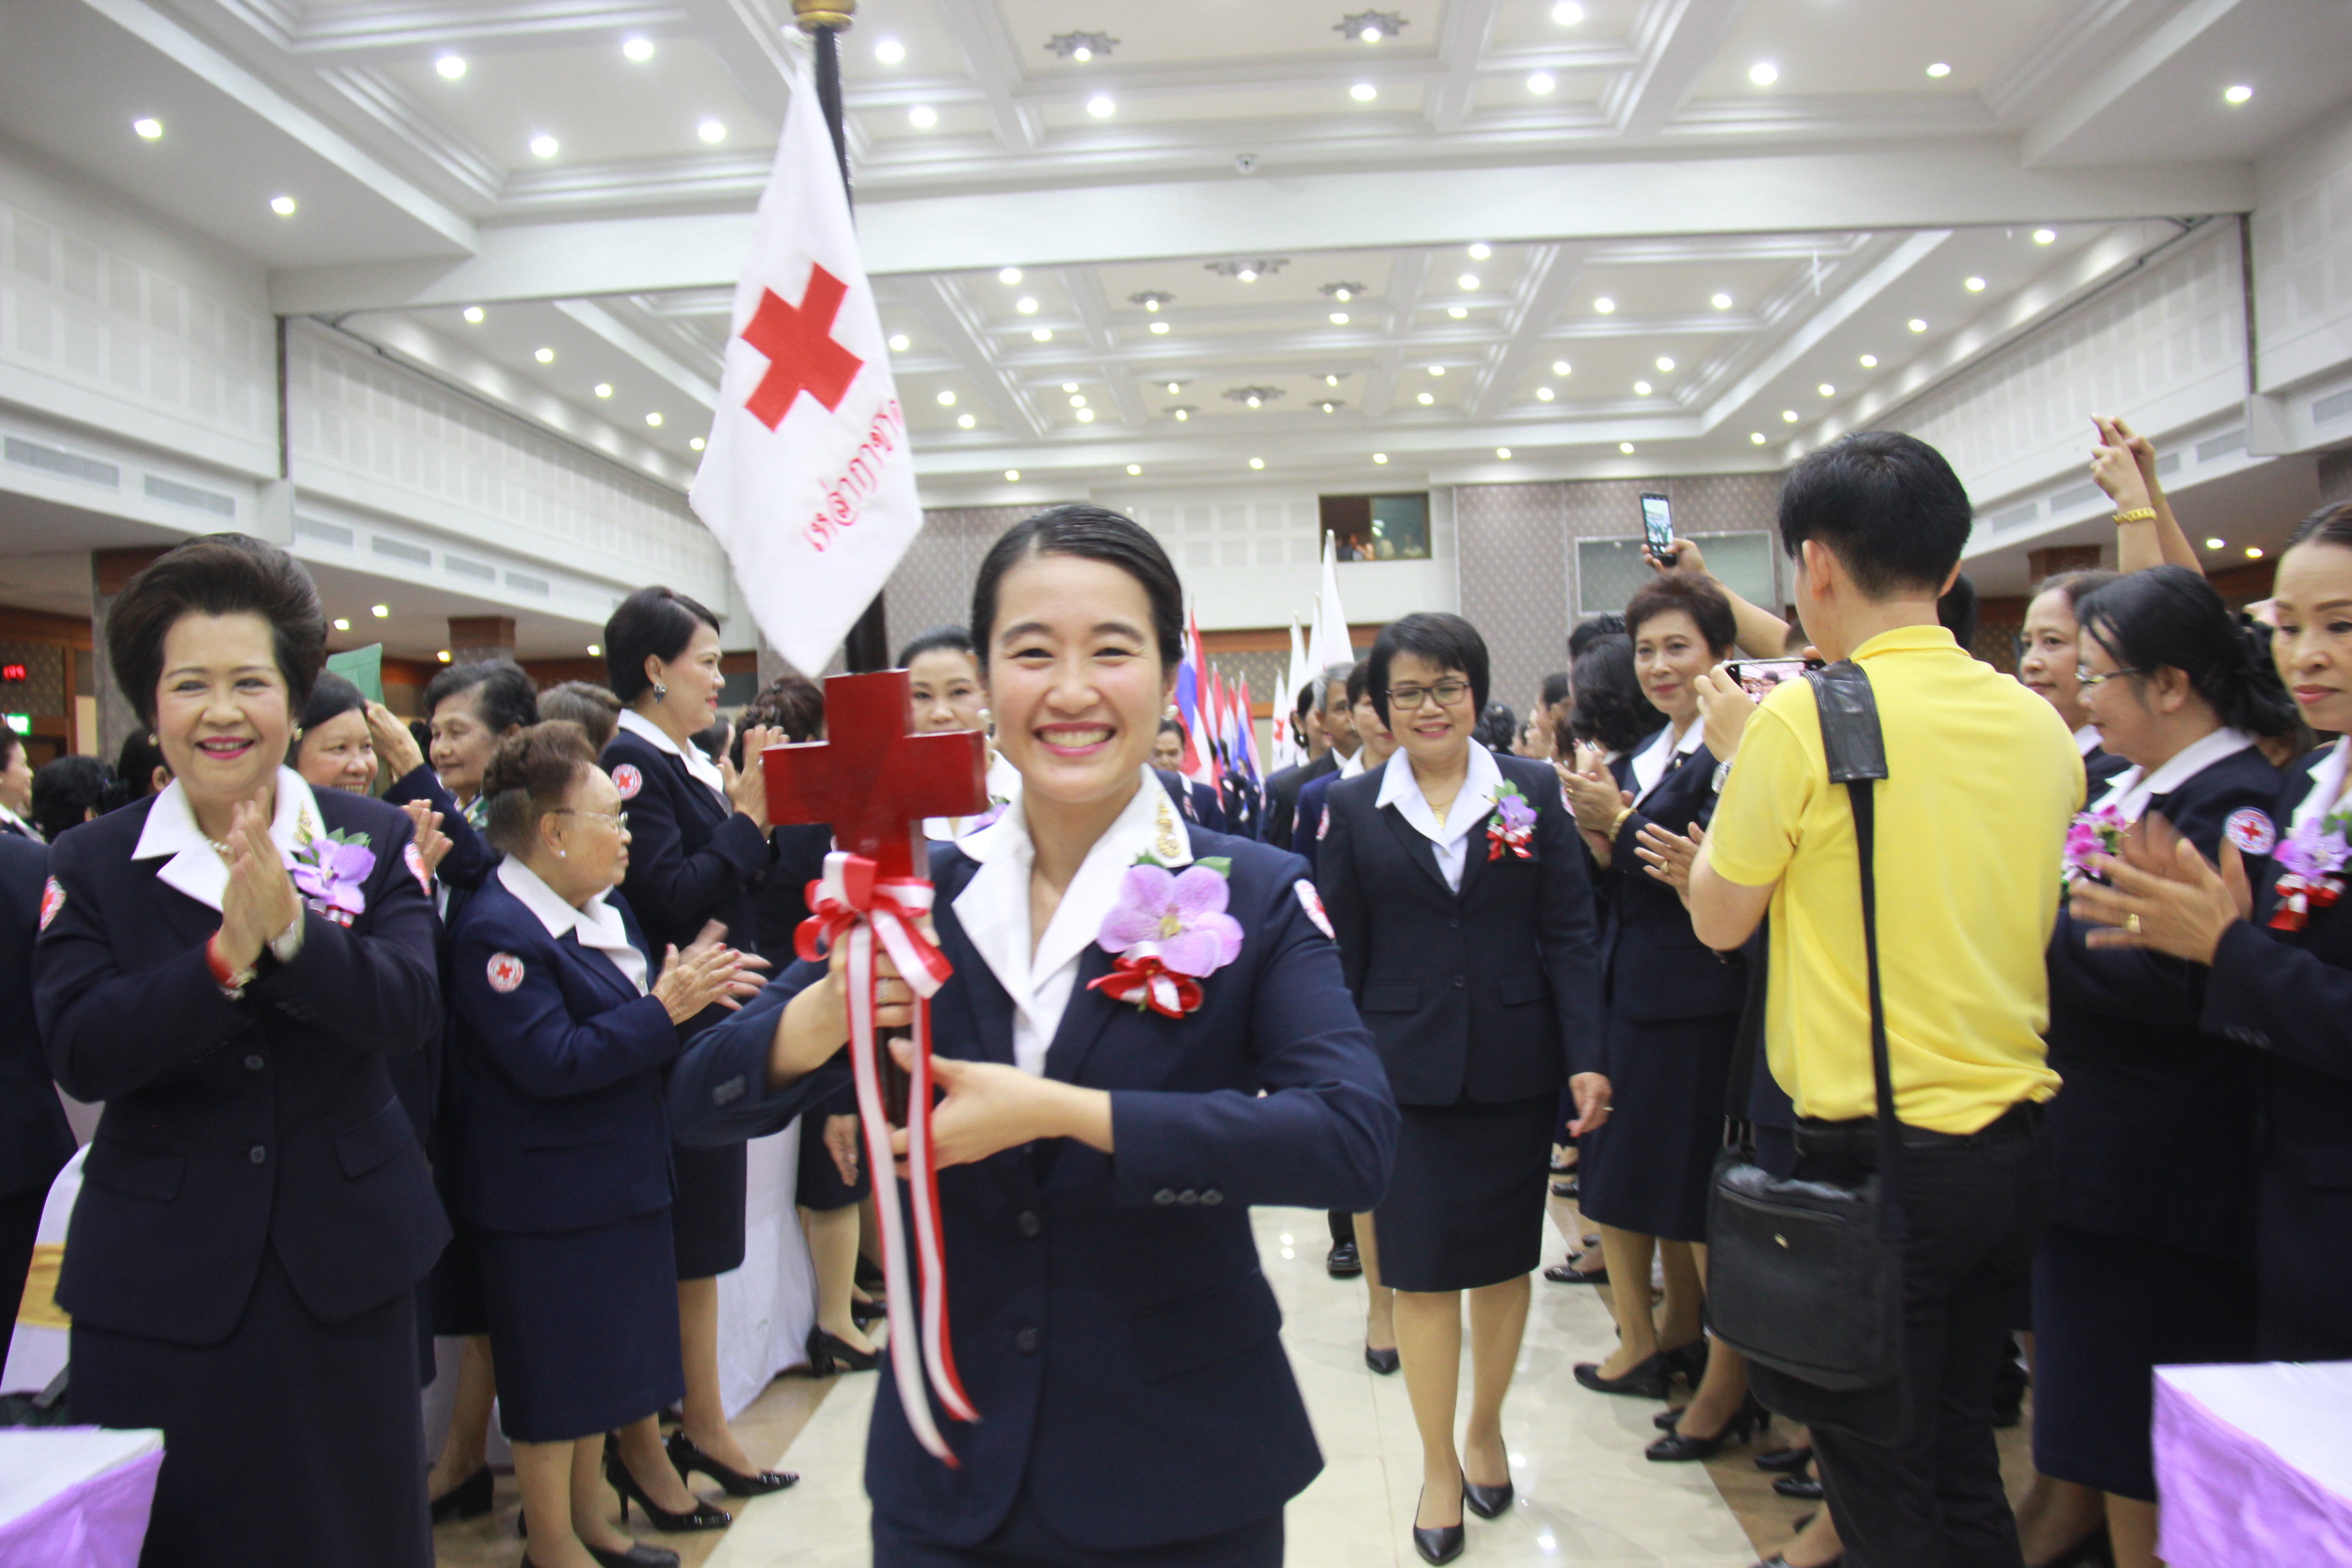
<svg viewBox="0 0 2352 1568">
<path fill-rule="evenodd" d="M 1338 950 L 1298 896 L 1312 886 L 1305 860 L 1284 860 L 1258 889 L 1270 907 L 1251 922 L 1270 940 L 1249 1011 L 1263 1093 L 1112 1091 L 1120 1204 L 1216 1187 L 1237 1204 L 1367 1211 L 1388 1192 L 1397 1103 Z"/>
</svg>

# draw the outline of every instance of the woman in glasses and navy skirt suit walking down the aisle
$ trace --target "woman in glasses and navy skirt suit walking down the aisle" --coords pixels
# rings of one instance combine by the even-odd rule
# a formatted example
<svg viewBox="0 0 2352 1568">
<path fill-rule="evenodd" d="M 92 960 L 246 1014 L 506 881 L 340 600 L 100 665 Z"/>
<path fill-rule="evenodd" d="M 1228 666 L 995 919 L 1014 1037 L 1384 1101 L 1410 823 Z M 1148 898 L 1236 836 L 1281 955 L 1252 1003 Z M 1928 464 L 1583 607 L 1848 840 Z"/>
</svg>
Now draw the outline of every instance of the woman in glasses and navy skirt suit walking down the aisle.
<svg viewBox="0 0 2352 1568">
<path fill-rule="evenodd" d="M 1512 1502 L 1503 1394 L 1541 1262 L 1562 1084 L 1573 1135 L 1609 1117 L 1592 886 L 1550 764 L 1472 738 L 1486 644 L 1468 621 L 1392 623 L 1364 689 L 1399 750 L 1331 785 L 1315 867 L 1404 1112 L 1374 1218 L 1421 1429 L 1414 1547 L 1444 1563 L 1463 1549 L 1465 1505 L 1494 1519 Z M 1472 1387 L 1456 1458 L 1463 1293 Z"/>
</svg>

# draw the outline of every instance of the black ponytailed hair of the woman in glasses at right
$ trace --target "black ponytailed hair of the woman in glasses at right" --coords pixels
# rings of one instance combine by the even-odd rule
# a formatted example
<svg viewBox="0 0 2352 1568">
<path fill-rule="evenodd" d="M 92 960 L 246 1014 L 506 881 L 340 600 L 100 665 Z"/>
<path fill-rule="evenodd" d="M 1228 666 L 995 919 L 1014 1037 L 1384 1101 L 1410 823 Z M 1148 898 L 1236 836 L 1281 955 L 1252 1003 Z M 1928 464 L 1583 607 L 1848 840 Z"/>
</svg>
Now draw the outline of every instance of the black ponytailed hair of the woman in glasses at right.
<svg viewBox="0 0 2352 1568">
<path fill-rule="evenodd" d="M 2296 705 L 2270 646 L 2239 625 L 2213 583 L 2187 567 L 2150 567 L 2086 592 L 2077 621 L 2126 670 L 2180 670 L 2230 729 L 2277 738 Z"/>
</svg>

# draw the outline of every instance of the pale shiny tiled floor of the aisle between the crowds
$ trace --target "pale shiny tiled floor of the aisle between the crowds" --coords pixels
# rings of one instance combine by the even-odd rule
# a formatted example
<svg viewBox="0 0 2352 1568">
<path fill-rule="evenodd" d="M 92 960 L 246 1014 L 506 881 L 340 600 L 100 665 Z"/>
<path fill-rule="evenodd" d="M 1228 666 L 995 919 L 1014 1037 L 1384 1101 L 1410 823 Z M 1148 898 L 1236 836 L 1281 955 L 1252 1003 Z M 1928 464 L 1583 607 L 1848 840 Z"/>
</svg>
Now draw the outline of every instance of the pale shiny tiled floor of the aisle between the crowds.
<svg viewBox="0 0 2352 1568">
<path fill-rule="evenodd" d="M 1364 1291 L 1324 1274 L 1329 1237 L 1319 1213 L 1261 1208 L 1254 1218 L 1265 1272 L 1282 1298 L 1291 1366 L 1324 1448 L 1324 1474 L 1287 1514 L 1289 1563 L 1418 1563 L 1406 1528 L 1421 1486 L 1421 1448 L 1402 1375 L 1378 1378 L 1364 1366 Z M 1548 1258 L 1557 1258 L 1557 1237 L 1548 1241 Z M 1536 1281 L 1519 1378 L 1505 1406 L 1519 1505 L 1491 1523 L 1470 1519 L 1463 1563 L 1743 1568 L 1788 1540 L 1790 1521 L 1811 1507 L 1776 1497 L 1745 1448 L 1708 1465 L 1644 1460 L 1658 1406 L 1592 1394 L 1571 1373 L 1576 1361 L 1602 1359 L 1611 1340 L 1609 1307 L 1597 1291 Z M 800 1486 L 729 1505 L 736 1523 L 724 1535 L 649 1540 L 680 1549 L 689 1568 L 863 1566 L 861 1469 L 873 1389 L 870 1375 L 779 1378 L 739 1432 L 755 1455 L 781 1453 L 781 1465 L 800 1472 Z M 2020 1434 L 2002 1436 L 2009 1469 L 2020 1479 Z M 1778 1434 L 1766 1439 L 1766 1446 L 1778 1443 Z M 501 1479 L 499 1497 L 494 1519 L 442 1528 L 445 1568 L 510 1568 L 517 1561 L 510 1481 Z"/>
</svg>

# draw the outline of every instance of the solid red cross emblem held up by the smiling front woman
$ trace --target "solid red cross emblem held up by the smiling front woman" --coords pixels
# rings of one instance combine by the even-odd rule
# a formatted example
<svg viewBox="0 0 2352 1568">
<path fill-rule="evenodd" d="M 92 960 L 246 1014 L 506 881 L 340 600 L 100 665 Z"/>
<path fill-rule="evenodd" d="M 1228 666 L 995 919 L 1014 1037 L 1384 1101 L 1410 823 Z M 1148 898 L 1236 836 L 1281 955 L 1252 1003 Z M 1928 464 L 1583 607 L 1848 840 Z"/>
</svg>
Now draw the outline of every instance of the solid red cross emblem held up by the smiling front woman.
<svg viewBox="0 0 2352 1568">
<path fill-rule="evenodd" d="M 906 670 L 826 679 L 826 741 L 771 745 L 767 820 L 830 823 L 833 842 L 880 877 L 924 877 L 922 818 L 988 809 L 976 729 L 910 736 Z"/>
</svg>

